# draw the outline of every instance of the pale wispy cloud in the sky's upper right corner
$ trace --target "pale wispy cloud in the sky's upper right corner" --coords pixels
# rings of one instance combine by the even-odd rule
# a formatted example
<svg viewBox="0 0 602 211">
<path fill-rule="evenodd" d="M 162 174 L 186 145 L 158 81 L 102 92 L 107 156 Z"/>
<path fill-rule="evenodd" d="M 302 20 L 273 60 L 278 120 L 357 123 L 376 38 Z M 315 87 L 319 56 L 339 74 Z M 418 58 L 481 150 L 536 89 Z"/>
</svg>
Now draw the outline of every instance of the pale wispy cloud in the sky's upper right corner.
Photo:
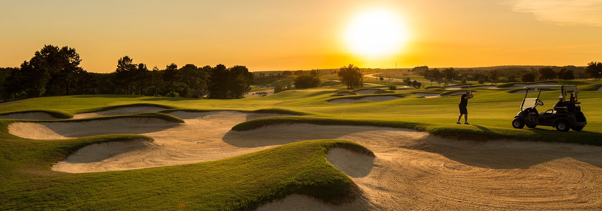
<svg viewBox="0 0 602 211">
<path fill-rule="evenodd" d="M 602 26 L 602 0 L 510 0 L 512 10 L 558 25 Z"/>
</svg>

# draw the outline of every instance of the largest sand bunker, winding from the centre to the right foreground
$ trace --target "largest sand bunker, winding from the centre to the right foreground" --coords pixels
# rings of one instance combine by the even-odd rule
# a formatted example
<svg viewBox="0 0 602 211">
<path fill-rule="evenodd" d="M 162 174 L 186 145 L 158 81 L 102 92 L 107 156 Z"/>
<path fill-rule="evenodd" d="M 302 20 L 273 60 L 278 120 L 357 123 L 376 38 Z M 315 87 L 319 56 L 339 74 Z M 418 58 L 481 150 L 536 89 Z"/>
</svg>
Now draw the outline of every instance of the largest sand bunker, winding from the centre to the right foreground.
<svg viewBox="0 0 602 211">
<path fill-rule="evenodd" d="M 276 114 L 232 111 L 171 114 L 184 118 L 186 123 L 142 133 L 154 138 L 154 142 L 90 145 L 58 162 L 52 170 L 83 173 L 190 164 L 291 142 L 335 138 L 358 142 L 374 151 L 373 157 L 332 148 L 326 157 L 330 164 L 350 176 L 364 199 L 335 205 L 295 194 L 264 204 L 259 210 L 597 210 L 602 207 L 599 200 L 602 147 L 458 141 L 411 129 L 372 126 L 282 124 L 239 132 L 230 129 L 245 120 Z M 9 127 L 14 134 L 13 124 Z M 53 127 L 35 124 L 23 129 L 40 133 Z M 105 126 L 109 125 L 87 130 Z M 133 126 L 130 123 L 121 127 Z M 52 132 L 63 136 L 82 133 Z M 114 146 L 116 143 L 122 145 Z"/>
</svg>

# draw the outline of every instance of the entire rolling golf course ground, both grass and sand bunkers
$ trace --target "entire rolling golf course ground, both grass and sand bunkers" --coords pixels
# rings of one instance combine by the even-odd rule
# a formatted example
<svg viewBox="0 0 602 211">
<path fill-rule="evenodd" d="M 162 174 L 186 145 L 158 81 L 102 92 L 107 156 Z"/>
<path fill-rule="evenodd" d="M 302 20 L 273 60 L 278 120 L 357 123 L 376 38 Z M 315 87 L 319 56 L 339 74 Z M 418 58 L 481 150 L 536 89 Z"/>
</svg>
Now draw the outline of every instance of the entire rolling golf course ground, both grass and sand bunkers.
<svg viewBox="0 0 602 211">
<path fill-rule="evenodd" d="M 577 85 L 588 118 L 582 131 L 512 127 L 521 88 L 542 83 Z M 375 84 L 234 100 L 97 94 L 5 102 L 0 207 L 595 210 L 601 87 Z M 471 125 L 456 124 L 458 95 L 469 90 Z M 542 91 L 541 107 L 559 94 Z"/>
</svg>

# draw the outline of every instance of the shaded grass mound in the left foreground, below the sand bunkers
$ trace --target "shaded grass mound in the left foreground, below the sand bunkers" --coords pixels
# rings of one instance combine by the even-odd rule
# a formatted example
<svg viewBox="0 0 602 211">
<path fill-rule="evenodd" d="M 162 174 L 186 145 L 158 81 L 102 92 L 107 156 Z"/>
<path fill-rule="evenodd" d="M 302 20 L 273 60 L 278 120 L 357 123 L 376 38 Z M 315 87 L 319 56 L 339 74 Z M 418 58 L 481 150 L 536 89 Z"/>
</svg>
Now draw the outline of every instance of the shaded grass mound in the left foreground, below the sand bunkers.
<svg viewBox="0 0 602 211">
<path fill-rule="evenodd" d="M 340 203 L 352 200 L 357 189 L 326 161 L 327 151 L 343 147 L 373 154 L 354 142 L 324 139 L 172 167 L 82 174 L 48 170 L 75 148 L 117 136 L 4 142 L 0 151 L 10 154 L 0 159 L 11 173 L 0 186 L 2 209 L 249 210 L 290 194 Z M 31 142 L 12 152 L 23 141 Z"/>
</svg>

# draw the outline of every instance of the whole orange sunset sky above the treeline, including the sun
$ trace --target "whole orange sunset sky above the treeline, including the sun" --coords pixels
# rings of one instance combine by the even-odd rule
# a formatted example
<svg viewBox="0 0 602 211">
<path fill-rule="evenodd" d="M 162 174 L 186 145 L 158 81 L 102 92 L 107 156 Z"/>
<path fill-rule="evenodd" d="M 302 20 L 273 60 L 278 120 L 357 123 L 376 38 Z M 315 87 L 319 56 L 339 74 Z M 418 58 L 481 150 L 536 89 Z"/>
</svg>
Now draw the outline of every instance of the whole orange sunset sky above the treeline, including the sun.
<svg viewBox="0 0 602 211">
<path fill-rule="evenodd" d="M 3 1 L 0 67 L 44 44 L 90 72 L 149 69 L 586 66 L 602 61 L 602 0 Z M 374 30 L 371 30 L 374 29 Z"/>
</svg>

